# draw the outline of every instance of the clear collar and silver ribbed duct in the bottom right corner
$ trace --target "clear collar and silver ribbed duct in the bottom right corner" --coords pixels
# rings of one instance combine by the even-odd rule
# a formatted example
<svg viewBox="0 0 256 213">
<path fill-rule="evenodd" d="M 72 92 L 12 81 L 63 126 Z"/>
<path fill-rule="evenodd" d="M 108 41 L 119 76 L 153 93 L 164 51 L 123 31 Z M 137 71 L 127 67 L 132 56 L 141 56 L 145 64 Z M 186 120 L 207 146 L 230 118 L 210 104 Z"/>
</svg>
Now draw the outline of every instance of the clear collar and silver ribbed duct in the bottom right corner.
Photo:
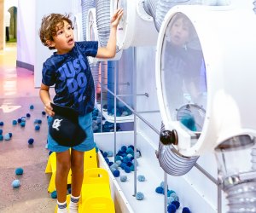
<svg viewBox="0 0 256 213">
<path fill-rule="evenodd" d="M 256 212 L 255 138 L 239 135 L 215 149 L 218 176 L 226 193 L 229 213 Z M 250 156 L 253 158 L 251 158 Z"/>
</svg>

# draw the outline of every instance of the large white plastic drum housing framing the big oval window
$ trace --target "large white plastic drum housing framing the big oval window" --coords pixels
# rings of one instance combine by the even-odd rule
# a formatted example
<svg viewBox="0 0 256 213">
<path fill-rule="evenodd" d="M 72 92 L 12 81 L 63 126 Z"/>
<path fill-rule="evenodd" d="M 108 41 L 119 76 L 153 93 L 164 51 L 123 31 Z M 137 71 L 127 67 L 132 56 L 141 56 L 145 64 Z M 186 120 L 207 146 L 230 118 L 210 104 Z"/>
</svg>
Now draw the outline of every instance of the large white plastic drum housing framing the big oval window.
<svg viewBox="0 0 256 213">
<path fill-rule="evenodd" d="M 195 101 L 191 98 L 191 93 L 190 96 L 178 95 L 178 91 L 188 87 L 191 81 L 184 83 L 188 76 L 181 75 L 182 86 L 177 83 L 170 70 L 164 69 L 162 57 L 166 52 L 166 29 L 177 13 L 185 14 L 189 18 L 201 43 L 207 84 L 205 91 L 199 89 L 205 99 L 202 101 Z M 220 142 L 236 135 L 256 135 L 256 122 L 251 116 L 256 107 L 256 102 L 251 100 L 255 96 L 252 86 L 256 79 L 253 59 L 256 54 L 255 23 L 256 16 L 252 9 L 236 9 L 234 6 L 185 5 L 174 7 L 166 14 L 157 43 L 157 93 L 166 130 L 177 130 L 177 150 L 183 155 L 213 152 Z M 168 73 L 169 82 L 166 81 Z M 192 75 L 195 78 L 200 77 L 199 73 L 201 69 L 197 74 L 192 72 Z M 170 87 L 175 83 L 177 90 L 173 88 L 173 94 L 170 95 L 168 85 Z M 197 85 L 200 86 L 199 83 Z M 188 94 L 191 92 L 189 89 L 185 90 Z M 177 97 L 182 102 L 176 106 Z M 185 102 L 184 98 L 187 98 Z M 183 124 L 177 121 L 174 114 L 182 103 L 197 104 L 206 110 L 201 135 L 193 134 L 193 131 L 183 128 Z"/>
</svg>

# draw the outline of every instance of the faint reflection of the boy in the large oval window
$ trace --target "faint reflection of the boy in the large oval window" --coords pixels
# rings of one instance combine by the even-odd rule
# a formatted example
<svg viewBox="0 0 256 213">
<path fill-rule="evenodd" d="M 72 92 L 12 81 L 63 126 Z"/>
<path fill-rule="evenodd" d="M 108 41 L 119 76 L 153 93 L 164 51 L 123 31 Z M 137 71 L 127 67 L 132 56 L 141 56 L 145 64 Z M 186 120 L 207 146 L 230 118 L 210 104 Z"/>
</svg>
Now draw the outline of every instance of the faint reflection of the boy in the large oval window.
<svg viewBox="0 0 256 213">
<path fill-rule="evenodd" d="M 169 29 L 167 31 L 170 33 L 169 36 L 166 34 L 168 42 L 166 42 L 164 66 L 166 70 L 169 70 L 169 73 L 166 72 L 166 77 L 169 76 L 170 83 L 172 83 L 171 99 L 175 98 L 176 100 L 173 100 L 176 103 L 175 107 L 180 107 L 183 104 L 184 90 L 187 90 L 192 100 L 199 92 L 200 83 L 198 81 L 203 58 L 200 44 L 197 45 L 198 47 L 192 48 L 192 43 L 196 40 L 197 35 L 186 15 L 175 14 Z"/>
</svg>

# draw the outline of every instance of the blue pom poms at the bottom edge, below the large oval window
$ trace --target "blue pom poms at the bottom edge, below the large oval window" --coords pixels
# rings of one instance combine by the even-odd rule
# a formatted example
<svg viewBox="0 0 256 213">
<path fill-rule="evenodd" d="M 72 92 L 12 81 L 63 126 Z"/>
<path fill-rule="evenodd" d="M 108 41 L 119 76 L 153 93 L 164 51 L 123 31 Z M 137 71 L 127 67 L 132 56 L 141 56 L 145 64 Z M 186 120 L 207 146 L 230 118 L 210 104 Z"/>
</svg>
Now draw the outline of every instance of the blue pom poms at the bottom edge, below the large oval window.
<svg viewBox="0 0 256 213">
<path fill-rule="evenodd" d="M 160 186 L 155 188 L 156 193 L 165 194 L 165 182 L 161 181 Z M 176 210 L 180 207 L 179 199 L 177 197 L 177 193 L 173 190 L 169 190 L 167 186 L 167 212 L 175 213 Z M 183 213 L 190 213 L 188 207 L 183 208 Z"/>
</svg>

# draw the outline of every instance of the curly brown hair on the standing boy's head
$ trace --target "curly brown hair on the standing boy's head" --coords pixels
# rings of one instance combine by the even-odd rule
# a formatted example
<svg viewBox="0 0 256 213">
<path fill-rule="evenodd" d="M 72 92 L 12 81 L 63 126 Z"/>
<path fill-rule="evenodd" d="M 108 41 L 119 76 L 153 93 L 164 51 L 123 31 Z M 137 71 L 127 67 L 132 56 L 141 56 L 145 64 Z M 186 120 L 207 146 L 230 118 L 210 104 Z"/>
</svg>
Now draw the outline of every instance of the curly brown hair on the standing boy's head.
<svg viewBox="0 0 256 213">
<path fill-rule="evenodd" d="M 73 29 L 73 23 L 69 17 L 70 14 L 49 14 L 44 16 L 39 30 L 39 37 L 44 46 L 49 49 L 55 49 L 55 47 L 49 47 L 47 41 L 54 41 L 53 37 L 56 35 L 58 28 L 64 26 L 64 20 L 66 20 Z"/>
</svg>

